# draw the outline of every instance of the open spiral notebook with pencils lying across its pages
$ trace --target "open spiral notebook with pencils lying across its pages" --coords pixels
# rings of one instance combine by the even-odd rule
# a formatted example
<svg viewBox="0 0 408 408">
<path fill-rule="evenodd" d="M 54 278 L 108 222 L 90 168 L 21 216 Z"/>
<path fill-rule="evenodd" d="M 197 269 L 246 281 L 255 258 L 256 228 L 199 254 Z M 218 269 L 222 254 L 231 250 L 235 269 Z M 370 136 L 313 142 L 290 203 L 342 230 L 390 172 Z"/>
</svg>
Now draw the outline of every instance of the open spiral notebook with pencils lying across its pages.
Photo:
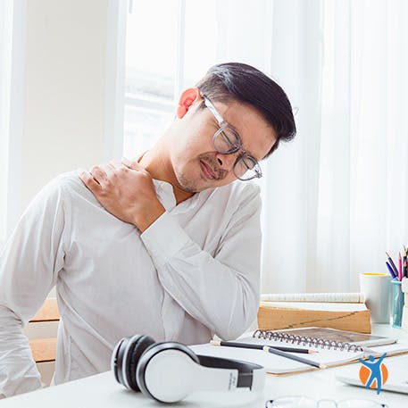
<svg viewBox="0 0 408 408">
<path fill-rule="evenodd" d="M 240 337 L 237 342 L 261 344 L 263 346 L 297 346 L 318 351 L 313 354 L 296 354 L 328 367 L 358 362 L 370 354 L 387 355 L 408 353 L 408 343 L 391 337 L 380 337 L 336 329 L 302 328 L 287 330 L 256 330 L 251 336 Z M 379 346 L 381 344 L 381 346 Z M 255 362 L 266 368 L 272 375 L 294 374 L 319 370 L 303 362 L 288 360 L 276 354 L 247 348 L 212 346 L 209 344 L 191 346 L 196 354 L 212 355 L 235 360 Z"/>
</svg>

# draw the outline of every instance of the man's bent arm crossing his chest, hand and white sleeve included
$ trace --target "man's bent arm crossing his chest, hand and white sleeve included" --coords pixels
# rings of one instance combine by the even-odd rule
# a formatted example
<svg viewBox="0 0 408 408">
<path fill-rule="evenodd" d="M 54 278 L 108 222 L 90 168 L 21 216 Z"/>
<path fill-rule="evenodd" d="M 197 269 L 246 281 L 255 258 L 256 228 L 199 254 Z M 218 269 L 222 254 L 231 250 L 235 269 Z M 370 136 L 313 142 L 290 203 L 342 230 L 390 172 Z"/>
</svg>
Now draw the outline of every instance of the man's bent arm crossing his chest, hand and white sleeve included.
<svg viewBox="0 0 408 408">
<path fill-rule="evenodd" d="M 259 305 L 259 188 L 233 214 L 212 256 L 165 212 L 147 171 L 137 163 L 132 163 L 135 168 L 125 164 L 95 166 L 80 179 L 107 211 L 142 232 L 162 286 L 187 313 L 221 338 L 239 336 L 254 321 Z"/>
</svg>

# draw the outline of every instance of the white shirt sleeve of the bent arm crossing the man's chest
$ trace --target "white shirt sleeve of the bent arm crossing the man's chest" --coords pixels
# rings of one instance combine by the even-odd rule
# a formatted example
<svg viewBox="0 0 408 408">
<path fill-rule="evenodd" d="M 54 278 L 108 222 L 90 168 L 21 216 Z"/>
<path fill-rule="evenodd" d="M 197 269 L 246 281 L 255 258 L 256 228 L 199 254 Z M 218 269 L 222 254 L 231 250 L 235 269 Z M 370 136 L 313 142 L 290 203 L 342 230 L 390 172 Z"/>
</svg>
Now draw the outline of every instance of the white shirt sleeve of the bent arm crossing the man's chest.
<svg viewBox="0 0 408 408">
<path fill-rule="evenodd" d="M 260 212 L 256 187 L 231 216 L 215 256 L 188 237 L 168 212 L 141 235 L 164 289 L 223 339 L 242 334 L 258 310 Z"/>
</svg>

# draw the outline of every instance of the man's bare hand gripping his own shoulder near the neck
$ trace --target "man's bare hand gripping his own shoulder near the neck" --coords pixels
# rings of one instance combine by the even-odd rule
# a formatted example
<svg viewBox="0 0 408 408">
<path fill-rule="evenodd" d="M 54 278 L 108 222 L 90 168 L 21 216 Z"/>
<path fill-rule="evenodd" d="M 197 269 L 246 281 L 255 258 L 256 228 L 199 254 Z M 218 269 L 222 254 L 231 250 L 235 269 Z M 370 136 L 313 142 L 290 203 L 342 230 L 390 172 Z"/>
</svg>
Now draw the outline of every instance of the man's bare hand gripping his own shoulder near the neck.
<svg viewBox="0 0 408 408">
<path fill-rule="evenodd" d="M 108 212 L 142 232 L 165 212 L 152 177 L 137 162 L 122 159 L 94 166 L 79 179 Z"/>
</svg>

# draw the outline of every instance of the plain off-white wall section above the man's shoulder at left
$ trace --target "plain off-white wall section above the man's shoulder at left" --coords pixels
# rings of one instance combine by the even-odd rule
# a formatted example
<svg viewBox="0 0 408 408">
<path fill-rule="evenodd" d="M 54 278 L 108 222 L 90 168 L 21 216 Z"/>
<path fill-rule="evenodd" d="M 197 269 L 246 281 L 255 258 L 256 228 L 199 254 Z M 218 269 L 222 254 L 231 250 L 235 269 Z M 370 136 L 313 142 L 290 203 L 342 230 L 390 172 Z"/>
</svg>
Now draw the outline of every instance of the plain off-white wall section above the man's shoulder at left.
<svg viewBox="0 0 408 408">
<path fill-rule="evenodd" d="M 20 211 L 55 175 L 105 159 L 108 3 L 26 2 Z"/>
</svg>

